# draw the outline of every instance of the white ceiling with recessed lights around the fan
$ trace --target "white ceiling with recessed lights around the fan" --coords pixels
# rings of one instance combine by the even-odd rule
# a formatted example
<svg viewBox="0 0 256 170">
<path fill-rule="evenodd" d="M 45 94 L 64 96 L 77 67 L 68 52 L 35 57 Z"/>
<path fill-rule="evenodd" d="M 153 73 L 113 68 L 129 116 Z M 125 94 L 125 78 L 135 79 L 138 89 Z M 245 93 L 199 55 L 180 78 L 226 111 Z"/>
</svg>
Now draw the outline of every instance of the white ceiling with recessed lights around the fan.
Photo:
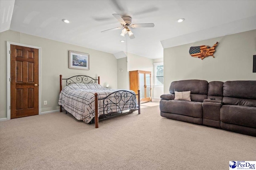
<svg viewBox="0 0 256 170">
<path fill-rule="evenodd" d="M 132 29 L 136 38 L 128 38 L 128 53 L 151 59 L 163 57 L 163 47 L 256 29 L 255 0 L 15 0 L 10 25 L 3 11 L 11 3 L 3 2 L 1 32 L 10 27 L 112 54 L 126 51 L 121 29 L 101 33 L 120 27 L 112 14 L 129 15 L 132 23 L 154 23 L 153 28 Z M 178 18 L 185 21 L 178 23 Z"/>
</svg>

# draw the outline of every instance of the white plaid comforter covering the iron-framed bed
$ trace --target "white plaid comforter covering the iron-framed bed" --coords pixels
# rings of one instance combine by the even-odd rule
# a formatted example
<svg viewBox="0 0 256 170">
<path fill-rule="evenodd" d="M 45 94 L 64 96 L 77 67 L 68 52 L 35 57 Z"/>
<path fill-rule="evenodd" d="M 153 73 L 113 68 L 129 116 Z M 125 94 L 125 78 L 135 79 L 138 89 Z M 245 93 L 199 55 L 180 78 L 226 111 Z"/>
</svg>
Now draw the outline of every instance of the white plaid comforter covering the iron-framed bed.
<svg viewBox="0 0 256 170">
<path fill-rule="evenodd" d="M 116 93 L 112 94 L 113 92 Z M 109 94 L 112 94 L 104 101 L 99 100 L 99 115 L 102 115 L 103 112 L 106 114 L 128 109 L 138 109 L 134 91 L 119 91 L 118 89 L 104 88 L 100 84 L 95 83 L 76 83 L 66 86 L 60 92 L 58 104 L 62 106 L 66 111 L 71 113 L 74 117 L 76 117 L 76 119 L 90 123 L 90 121 L 95 116 L 95 93 L 98 93 L 98 99 L 105 98 Z M 108 104 L 107 107 L 106 104 Z"/>
</svg>

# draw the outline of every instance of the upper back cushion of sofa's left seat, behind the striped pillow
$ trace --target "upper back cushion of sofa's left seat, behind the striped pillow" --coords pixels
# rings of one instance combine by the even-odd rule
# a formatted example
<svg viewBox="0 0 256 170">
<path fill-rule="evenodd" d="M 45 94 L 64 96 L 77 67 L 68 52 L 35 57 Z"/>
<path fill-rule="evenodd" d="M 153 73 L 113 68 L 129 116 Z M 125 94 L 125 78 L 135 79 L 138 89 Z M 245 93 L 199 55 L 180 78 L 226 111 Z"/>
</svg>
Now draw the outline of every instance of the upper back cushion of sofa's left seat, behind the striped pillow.
<svg viewBox="0 0 256 170">
<path fill-rule="evenodd" d="M 185 92 L 190 91 L 191 94 L 206 94 L 207 95 L 208 82 L 206 80 L 180 80 L 171 83 L 169 92 Z"/>
</svg>

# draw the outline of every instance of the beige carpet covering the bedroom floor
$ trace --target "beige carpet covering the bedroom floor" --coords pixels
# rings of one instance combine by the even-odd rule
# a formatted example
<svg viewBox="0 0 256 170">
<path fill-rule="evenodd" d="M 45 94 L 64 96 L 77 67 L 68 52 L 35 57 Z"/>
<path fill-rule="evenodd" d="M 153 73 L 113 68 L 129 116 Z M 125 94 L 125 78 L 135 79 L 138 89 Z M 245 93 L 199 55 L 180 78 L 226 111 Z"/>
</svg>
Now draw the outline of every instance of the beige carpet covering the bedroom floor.
<svg viewBox="0 0 256 170">
<path fill-rule="evenodd" d="M 0 122 L 0 169 L 227 170 L 256 137 L 160 117 L 159 106 L 100 121 L 49 113 Z"/>
</svg>

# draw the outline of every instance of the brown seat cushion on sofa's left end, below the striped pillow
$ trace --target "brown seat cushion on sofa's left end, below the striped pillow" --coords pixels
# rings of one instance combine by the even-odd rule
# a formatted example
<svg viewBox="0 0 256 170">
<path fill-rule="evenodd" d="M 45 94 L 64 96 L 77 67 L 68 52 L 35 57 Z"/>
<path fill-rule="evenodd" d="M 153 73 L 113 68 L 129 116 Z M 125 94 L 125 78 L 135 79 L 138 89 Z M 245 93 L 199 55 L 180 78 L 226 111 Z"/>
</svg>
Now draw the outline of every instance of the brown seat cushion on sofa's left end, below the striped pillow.
<svg viewBox="0 0 256 170">
<path fill-rule="evenodd" d="M 160 111 L 202 118 L 202 103 L 185 100 L 161 100 Z"/>
</svg>

